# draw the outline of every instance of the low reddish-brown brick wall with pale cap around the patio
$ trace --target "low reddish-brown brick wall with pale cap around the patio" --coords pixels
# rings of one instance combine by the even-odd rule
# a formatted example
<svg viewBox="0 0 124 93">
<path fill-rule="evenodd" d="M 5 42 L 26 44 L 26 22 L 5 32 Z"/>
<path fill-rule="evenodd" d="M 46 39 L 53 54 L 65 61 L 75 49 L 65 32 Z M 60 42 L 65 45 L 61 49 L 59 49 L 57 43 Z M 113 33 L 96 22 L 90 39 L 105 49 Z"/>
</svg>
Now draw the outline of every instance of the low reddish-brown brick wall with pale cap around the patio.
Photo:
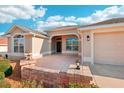
<svg viewBox="0 0 124 93">
<path fill-rule="evenodd" d="M 91 75 L 88 76 L 83 73 L 83 67 L 80 70 L 70 69 L 70 67 L 67 72 L 60 72 L 35 65 L 26 65 L 22 66 L 21 78 L 23 80 L 42 81 L 45 87 L 68 87 L 69 83 L 90 84 L 93 82 Z"/>
</svg>

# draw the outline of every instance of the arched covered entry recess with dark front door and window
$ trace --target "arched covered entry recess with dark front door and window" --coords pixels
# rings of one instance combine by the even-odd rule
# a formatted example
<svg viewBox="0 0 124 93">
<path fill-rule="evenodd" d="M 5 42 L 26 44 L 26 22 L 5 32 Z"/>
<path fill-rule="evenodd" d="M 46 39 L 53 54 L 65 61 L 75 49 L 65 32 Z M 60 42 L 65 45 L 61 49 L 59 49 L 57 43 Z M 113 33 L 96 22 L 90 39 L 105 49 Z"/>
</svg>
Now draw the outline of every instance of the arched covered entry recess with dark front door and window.
<svg viewBox="0 0 124 93">
<path fill-rule="evenodd" d="M 80 53 L 79 37 L 76 35 L 56 35 L 51 38 L 51 54 Z"/>
</svg>

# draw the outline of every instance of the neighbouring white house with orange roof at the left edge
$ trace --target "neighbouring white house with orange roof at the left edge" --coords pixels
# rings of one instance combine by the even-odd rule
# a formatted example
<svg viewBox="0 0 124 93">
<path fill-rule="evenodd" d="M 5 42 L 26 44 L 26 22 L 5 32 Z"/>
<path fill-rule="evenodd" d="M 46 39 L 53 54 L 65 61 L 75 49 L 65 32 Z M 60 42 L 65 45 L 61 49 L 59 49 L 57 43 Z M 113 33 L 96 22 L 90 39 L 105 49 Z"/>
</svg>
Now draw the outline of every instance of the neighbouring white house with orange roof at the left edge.
<svg viewBox="0 0 124 93">
<path fill-rule="evenodd" d="M 0 55 L 3 57 L 8 51 L 8 40 L 5 37 L 0 37 Z"/>
</svg>

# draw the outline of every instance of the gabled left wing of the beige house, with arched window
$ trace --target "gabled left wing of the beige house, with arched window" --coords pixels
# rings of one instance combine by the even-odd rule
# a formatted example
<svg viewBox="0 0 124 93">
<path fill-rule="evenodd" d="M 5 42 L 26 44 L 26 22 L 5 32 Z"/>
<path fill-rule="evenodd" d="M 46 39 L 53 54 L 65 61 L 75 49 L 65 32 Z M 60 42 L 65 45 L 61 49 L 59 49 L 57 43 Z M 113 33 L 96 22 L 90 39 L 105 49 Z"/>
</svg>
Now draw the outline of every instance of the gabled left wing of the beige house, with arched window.
<svg viewBox="0 0 124 93">
<path fill-rule="evenodd" d="M 49 39 L 38 31 L 14 25 L 5 35 L 8 38 L 8 57 L 11 59 L 24 58 L 28 53 L 33 58 L 47 54 Z"/>
</svg>

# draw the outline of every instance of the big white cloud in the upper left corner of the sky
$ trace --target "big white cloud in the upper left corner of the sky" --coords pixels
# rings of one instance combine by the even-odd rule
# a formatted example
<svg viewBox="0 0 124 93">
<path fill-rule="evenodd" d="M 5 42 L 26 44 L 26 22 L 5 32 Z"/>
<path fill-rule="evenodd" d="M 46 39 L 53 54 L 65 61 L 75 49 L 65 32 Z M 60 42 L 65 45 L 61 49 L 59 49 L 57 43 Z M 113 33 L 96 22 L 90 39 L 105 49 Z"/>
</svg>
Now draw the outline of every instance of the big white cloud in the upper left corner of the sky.
<svg viewBox="0 0 124 93">
<path fill-rule="evenodd" d="M 0 6 L 0 23 L 11 23 L 16 19 L 33 19 L 43 17 L 46 8 L 42 6 L 35 9 L 35 6 Z"/>
</svg>

